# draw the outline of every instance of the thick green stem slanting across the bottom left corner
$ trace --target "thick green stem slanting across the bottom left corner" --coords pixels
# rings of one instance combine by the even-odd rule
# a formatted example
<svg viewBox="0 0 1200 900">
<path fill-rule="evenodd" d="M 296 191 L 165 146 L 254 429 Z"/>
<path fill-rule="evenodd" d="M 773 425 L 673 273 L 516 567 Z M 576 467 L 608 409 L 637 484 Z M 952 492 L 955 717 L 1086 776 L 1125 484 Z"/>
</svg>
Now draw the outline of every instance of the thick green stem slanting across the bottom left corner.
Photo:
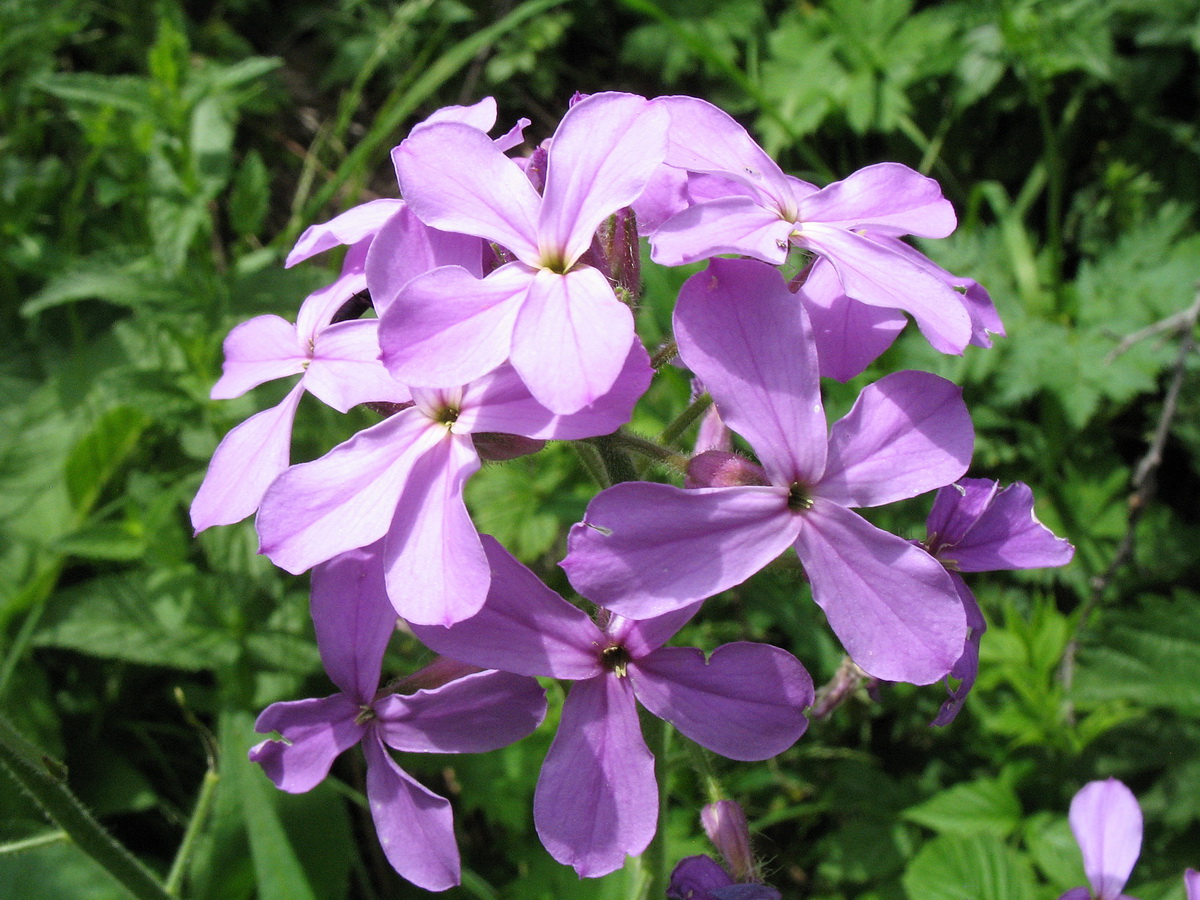
<svg viewBox="0 0 1200 900">
<path fill-rule="evenodd" d="M 0 715 L 0 767 L 84 853 L 138 900 L 169 900 L 158 880 L 100 824 L 64 784 L 66 767 L 43 754 Z"/>
</svg>

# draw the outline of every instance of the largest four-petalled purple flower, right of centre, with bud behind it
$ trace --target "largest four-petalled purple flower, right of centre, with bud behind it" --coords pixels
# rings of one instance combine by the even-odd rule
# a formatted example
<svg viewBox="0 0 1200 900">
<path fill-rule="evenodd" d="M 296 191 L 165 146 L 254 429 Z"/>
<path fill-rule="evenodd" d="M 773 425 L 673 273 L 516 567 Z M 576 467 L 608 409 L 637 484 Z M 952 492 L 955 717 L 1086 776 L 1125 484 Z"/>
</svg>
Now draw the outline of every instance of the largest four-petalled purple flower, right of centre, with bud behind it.
<svg viewBox="0 0 1200 900">
<path fill-rule="evenodd" d="M 714 259 L 689 278 L 674 325 L 683 361 L 762 466 L 725 455 L 702 473 L 709 487 L 604 491 L 571 529 L 563 568 L 575 588 L 622 616 L 659 616 L 740 583 L 793 546 L 814 600 L 863 670 L 916 684 L 942 678 L 966 637 L 949 576 L 848 508 L 962 475 L 973 431 L 961 391 L 898 372 L 866 388 L 827 433 L 808 316 L 779 272 L 754 260 Z M 712 458 L 696 457 L 694 469 Z"/>
</svg>

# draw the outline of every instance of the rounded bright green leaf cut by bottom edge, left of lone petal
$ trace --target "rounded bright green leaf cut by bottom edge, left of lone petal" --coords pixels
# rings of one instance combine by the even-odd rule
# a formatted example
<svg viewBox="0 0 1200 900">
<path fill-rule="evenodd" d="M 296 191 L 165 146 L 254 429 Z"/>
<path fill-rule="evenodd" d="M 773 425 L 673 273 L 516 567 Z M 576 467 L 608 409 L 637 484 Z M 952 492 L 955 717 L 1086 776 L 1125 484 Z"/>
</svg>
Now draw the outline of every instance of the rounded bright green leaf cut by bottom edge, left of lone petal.
<svg viewBox="0 0 1200 900">
<path fill-rule="evenodd" d="M 1037 900 L 1028 862 L 990 834 L 943 834 L 904 874 L 911 900 Z"/>
</svg>

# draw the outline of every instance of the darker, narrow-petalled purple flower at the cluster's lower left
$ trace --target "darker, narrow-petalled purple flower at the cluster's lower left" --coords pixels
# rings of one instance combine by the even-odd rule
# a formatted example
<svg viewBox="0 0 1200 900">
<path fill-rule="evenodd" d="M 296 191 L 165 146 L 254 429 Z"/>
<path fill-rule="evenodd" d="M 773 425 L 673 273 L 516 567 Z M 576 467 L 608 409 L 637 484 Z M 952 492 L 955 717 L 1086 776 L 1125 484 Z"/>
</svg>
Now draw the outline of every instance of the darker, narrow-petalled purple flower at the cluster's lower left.
<svg viewBox="0 0 1200 900">
<path fill-rule="evenodd" d="M 383 654 L 396 613 L 384 594 L 376 548 L 318 566 L 312 576 L 317 646 L 340 694 L 272 703 L 256 731 L 277 731 L 250 751 L 276 787 L 310 791 L 344 750 L 362 745 L 367 799 L 384 854 L 402 876 L 428 890 L 458 883 L 450 803 L 401 769 L 385 749 L 480 752 L 523 738 L 546 713 L 530 678 L 475 672 L 413 695 L 378 696 Z"/>
</svg>

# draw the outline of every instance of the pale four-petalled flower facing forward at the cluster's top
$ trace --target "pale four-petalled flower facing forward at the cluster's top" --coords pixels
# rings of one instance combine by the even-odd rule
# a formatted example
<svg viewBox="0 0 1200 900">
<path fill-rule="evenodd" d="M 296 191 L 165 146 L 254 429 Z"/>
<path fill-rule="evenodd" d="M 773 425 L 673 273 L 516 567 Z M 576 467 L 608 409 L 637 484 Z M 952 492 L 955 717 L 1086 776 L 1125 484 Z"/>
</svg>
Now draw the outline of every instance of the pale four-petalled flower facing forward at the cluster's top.
<svg viewBox="0 0 1200 900">
<path fill-rule="evenodd" d="M 380 326 L 384 364 L 404 384 L 464 384 L 508 359 L 556 413 L 599 400 L 620 372 L 634 317 L 604 275 L 580 262 L 596 228 L 632 203 L 666 152 L 667 114 L 629 94 L 568 110 L 548 151 L 542 196 L 481 132 L 415 128 L 394 152 L 422 222 L 470 234 L 516 259 L 484 280 L 445 266 L 408 282 Z"/>
</svg>

